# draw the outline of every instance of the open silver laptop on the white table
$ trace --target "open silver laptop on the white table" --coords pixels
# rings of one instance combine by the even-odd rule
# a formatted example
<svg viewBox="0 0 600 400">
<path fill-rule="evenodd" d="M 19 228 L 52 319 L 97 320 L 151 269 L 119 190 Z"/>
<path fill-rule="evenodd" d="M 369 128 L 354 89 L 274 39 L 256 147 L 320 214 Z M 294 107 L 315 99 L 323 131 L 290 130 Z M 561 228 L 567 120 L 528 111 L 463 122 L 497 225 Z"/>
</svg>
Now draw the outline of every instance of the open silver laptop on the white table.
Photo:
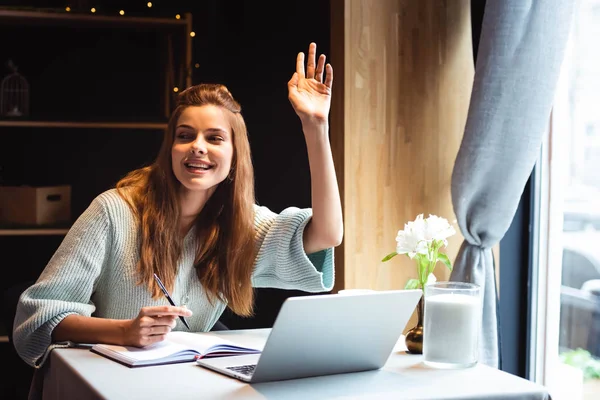
<svg viewBox="0 0 600 400">
<path fill-rule="evenodd" d="M 249 383 L 379 369 L 421 294 L 414 289 L 289 297 L 260 354 L 196 363 Z"/>
</svg>

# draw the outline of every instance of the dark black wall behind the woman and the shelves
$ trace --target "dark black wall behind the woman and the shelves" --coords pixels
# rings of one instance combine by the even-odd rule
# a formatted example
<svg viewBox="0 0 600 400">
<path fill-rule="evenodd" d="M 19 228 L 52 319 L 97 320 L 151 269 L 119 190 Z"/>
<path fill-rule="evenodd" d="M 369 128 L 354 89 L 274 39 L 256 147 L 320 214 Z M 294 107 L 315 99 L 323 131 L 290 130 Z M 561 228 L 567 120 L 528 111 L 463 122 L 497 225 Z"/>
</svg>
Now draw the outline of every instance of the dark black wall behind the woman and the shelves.
<svg viewBox="0 0 600 400">
<path fill-rule="evenodd" d="M 193 83 L 227 85 L 242 104 L 250 135 L 257 202 L 279 212 L 310 207 L 310 176 L 300 122 L 287 100 L 287 81 L 296 54 L 315 41 L 329 55 L 329 1 L 318 7 L 285 2 L 203 0 L 73 1 L 98 14 L 193 16 Z M 63 1 L 0 1 L 1 7 L 62 10 Z M 164 33 L 93 27 L 36 27 L 0 24 L 0 78 L 12 59 L 31 90 L 30 119 L 156 121 L 163 117 Z M 334 66 L 335 67 L 335 66 Z M 0 128 L 0 184 L 72 186 L 77 217 L 93 197 L 127 171 L 151 162 L 159 131 L 104 129 Z M 3 292 L 37 278 L 62 237 L 0 237 L 0 266 L 10 279 Z M 232 328 L 270 326 L 289 295 L 299 291 L 257 291 L 257 315 L 240 319 L 226 313 Z M 4 298 L 5 319 L 13 299 Z M 6 314 L 9 314 L 8 316 Z M 31 370 L 19 365 L 10 344 L 0 343 L 2 359 L 14 359 L 11 374 L 0 375 L 7 398 L 26 393 Z M 19 368 L 23 367 L 23 368 Z"/>
</svg>

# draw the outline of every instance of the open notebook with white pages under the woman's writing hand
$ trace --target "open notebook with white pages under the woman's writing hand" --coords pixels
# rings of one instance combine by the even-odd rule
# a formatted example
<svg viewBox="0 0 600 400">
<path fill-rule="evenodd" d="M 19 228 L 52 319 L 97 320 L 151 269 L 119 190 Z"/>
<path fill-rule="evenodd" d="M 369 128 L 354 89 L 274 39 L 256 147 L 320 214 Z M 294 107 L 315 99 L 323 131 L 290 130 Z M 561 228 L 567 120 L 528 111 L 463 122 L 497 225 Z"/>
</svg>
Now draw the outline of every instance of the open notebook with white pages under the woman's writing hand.
<svg viewBox="0 0 600 400">
<path fill-rule="evenodd" d="M 95 344 L 91 351 L 128 367 L 192 362 L 200 358 L 258 354 L 259 349 L 238 346 L 226 339 L 192 332 L 170 332 L 167 338 L 147 347 Z"/>
</svg>

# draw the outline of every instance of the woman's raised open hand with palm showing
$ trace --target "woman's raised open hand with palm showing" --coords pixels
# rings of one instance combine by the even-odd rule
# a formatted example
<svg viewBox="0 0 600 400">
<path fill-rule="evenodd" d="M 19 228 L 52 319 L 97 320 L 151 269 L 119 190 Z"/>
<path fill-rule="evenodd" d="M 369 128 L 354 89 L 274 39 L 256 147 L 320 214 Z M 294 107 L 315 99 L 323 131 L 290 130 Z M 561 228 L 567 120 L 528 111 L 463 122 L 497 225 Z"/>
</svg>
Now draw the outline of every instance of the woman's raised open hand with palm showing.
<svg viewBox="0 0 600 400">
<path fill-rule="evenodd" d="M 298 53 L 296 72 L 288 82 L 288 99 L 303 124 L 327 123 L 329 116 L 333 67 L 325 64 L 324 54 L 316 61 L 316 53 L 317 45 L 311 43 L 308 47 L 306 71 L 304 53 Z"/>
</svg>

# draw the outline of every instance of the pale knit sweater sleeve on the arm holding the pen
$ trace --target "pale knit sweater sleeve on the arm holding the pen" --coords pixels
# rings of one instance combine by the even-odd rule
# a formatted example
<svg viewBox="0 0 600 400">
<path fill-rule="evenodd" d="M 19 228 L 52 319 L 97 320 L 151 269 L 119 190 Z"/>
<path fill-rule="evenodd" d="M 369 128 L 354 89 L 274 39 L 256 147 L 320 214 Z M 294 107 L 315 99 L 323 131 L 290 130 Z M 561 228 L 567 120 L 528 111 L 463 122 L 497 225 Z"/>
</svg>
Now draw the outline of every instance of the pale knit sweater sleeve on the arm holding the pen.
<svg viewBox="0 0 600 400">
<path fill-rule="evenodd" d="M 75 221 L 36 283 L 19 298 L 13 328 L 15 349 L 40 367 L 50 350 L 52 331 L 68 315 L 91 316 L 90 298 L 109 252 L 109 221 L 98 196 Z"/>
</svg>

